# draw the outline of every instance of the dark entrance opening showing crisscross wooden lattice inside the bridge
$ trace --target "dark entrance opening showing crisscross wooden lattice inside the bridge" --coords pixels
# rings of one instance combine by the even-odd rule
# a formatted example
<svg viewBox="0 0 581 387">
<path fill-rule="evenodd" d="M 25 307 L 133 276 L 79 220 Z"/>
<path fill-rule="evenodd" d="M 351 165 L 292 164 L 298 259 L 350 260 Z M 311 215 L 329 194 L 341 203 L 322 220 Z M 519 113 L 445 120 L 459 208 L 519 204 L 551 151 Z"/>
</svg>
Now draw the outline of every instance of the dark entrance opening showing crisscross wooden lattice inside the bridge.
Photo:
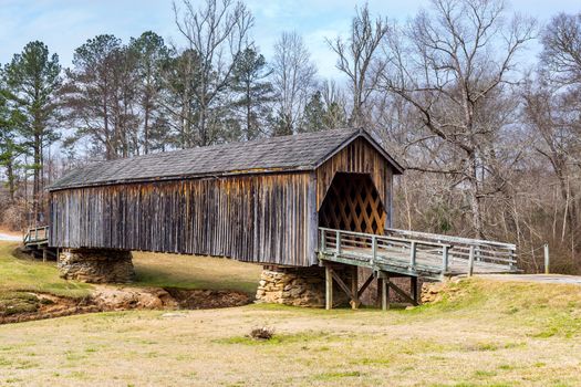
<svg viewBox="0 0 581 387">
<path fill-rule="evenodd" d="M 322 227 L 383 234 L 385 211 L 367 175 L 336 174 L 319 211 Z"/>
</svg>

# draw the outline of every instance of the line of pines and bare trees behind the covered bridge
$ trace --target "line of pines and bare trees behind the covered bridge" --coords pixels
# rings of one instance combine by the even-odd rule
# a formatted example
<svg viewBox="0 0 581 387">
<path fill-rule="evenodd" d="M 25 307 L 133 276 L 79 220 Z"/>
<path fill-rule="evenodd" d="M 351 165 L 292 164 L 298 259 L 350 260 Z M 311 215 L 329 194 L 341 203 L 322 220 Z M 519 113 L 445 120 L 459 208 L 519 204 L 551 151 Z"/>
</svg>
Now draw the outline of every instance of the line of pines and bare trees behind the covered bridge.
<svg viewBox="0 0 581 387">
<path fill-rule="evenodd" d="M 531 271 L 548 241 L 581 269 L 581 13 L 539 25 L 501 0 L 433 0 L 395 23 L 364 6 L 326 40 L 340 82 L 295 32 L 267 60 L 243 2 L 174 13 L 185 44 L 98 35 L 62 69 L 32 42 L 2 69 L 8 201 L 40 212 L 48 180 L 90 159 L 361 126 L 407 168 L 395 226 L 512 241 Z"/>
</svg>

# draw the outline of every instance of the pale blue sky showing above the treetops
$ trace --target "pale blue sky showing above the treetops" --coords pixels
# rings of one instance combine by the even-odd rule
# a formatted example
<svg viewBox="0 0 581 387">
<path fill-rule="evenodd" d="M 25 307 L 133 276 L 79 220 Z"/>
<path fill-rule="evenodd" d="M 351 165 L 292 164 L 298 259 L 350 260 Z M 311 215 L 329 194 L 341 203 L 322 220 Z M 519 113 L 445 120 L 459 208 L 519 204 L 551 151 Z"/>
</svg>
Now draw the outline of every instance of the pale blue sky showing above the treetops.
<svg viewBox="0 0 581 387">
<path fill-rule="evenodd" d="M 200 0 L 198 0 L 200 2 Z M 282 31 L 297 30 L 311 51 L 320 75 L 335 76 L 335 57 L 324 43 L 349 29 L 353 0 L 248 0 L 255 14 L 252 35 L 262 53 L 270 56 Z M 428 3 L 427 0 L 370 0 L 375 14 L 405 21 Z M 558 12 L 581 12 L 580 0 L 513 0 L 513 11 L 541 22 Z M 124 41 L 153 30 L 179 45 L 170 0 L 0 0 L 0 63 L 7 63 L 32 40 L 44 41 L 63 65 L 87 39 L 112 33 Z"/>
</svg>

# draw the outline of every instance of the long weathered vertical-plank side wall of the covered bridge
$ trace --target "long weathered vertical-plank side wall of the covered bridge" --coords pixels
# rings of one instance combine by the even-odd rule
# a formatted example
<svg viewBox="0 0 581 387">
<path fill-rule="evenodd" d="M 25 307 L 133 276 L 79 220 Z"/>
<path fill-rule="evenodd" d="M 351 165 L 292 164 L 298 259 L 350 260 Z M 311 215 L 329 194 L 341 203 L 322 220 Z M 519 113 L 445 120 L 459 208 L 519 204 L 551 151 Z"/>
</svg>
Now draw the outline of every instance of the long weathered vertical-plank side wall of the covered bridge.
<svg viewBox="0 0 581 387">
<path fill-rule="evenodd" d="M 53 191 L 51 244 L 310 265 L 309 181 L 309 172 L 293 172 Z"/>
</svg>

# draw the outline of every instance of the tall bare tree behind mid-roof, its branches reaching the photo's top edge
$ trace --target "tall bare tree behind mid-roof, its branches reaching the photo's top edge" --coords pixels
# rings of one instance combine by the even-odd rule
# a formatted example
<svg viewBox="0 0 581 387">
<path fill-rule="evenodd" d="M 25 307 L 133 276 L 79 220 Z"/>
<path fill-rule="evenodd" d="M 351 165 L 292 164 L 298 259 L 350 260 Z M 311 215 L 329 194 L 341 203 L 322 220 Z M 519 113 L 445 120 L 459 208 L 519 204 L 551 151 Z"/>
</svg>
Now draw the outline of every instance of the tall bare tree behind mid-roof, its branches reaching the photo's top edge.
<svg viewBox="0 0 581 387">
<path fill-rule="evenodd" d="M 232 0 L 205 0 L 196 9 L 190 0 L 183 0 L 180 10 L 174 2 L 176 25 L 187 40 L 188 50 L 199 59 L 196 67 L 198 86 L 193 91 L 197 112 L 183 116 L 193 121 L 196 130 L 196 144 L 206 146 L 220 137 L 220 98 L 231 84 L 236 57 L 248 45 L 248 32 L 253 24 L 253 17 L 246 6 Z M 187 62 L 186 62 L 187 63 Z"/>
</svg>

